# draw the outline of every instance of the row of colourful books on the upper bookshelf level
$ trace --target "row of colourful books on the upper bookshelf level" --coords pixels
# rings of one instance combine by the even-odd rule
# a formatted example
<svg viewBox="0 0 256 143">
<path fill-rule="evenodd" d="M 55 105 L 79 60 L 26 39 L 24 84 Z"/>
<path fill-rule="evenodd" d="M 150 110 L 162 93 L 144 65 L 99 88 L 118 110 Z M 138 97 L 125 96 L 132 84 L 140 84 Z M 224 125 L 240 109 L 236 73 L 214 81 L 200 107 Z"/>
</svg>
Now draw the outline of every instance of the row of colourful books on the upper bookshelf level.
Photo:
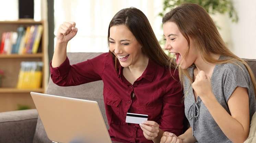
<svg viewBox="0 0 256 143">
<path fill-rule="evenodd" d="M 0 54 L 37 53 L 42 36 L 42 25 L 19 27 L 17 32 L 3 32 Z"/>
</svg>

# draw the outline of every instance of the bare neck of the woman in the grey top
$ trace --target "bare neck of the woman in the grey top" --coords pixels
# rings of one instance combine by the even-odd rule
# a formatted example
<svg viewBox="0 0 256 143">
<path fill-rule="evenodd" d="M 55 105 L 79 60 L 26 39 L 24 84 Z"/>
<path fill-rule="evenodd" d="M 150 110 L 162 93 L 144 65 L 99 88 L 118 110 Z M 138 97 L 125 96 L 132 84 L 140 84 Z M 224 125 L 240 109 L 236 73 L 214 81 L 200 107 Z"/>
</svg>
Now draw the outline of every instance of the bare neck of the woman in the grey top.
<svg viewBox="0 0 256 143">
<path fill-rule="evenodd" d="M 216 60 L 219 59 L 219 54 L 210 54 L 210 56 Z M 206 75 L 210 76 L 212 75 L 213 69 L 216 64 L 208 63 L 203 60 L 202 55 L 198 56 L 196 61 L 194 62 L 196 68 L 199 70 L 203 70 Z"/>
</svg>

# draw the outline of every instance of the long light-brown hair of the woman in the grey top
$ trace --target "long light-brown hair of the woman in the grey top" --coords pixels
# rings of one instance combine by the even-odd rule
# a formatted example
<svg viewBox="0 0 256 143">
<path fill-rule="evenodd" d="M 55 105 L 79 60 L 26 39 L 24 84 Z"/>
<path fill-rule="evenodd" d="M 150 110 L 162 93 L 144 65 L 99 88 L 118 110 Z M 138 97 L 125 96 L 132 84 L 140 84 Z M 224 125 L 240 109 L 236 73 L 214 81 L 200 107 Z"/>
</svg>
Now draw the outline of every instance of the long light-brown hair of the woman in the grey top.
<svg viewBox="0 0 256 143">
<path fill-rule="evenodd" d="M 202 6 L 193 3 L 181 4 L 180 6 L 168 12 L 163 17 L 163 24 L 168 21 L 176 23 L 180 32 L 188 42 L 188 49 L 184 57 L 186 57 L 190 49 L 190 37 L 194 40 L 195 46 L 202 54 L 202 58 L 204 61 L 214 64 L 244 64 L 251 77 L 254 91 L 256 93 L 256 81 L 252 69 L 244 60 L 237 57 L 225 46 L 225 43 L 221 38 L 214 21 L 211 19 L 209 14 L 204 10 Z M 224 55 L 230 57 L 230 59 L 216 60 L 209 56 L 211 53 Z M 192 77 L 190 77 L 190 75 L 188 74 L 187 69 L 182 69 L 180 66 L 178 66 L 178 69 L 180 81 L 182 83 L 184 80 L 184 76 L 188 77 L 191 83 L 193 82 Z"/>
</svg>

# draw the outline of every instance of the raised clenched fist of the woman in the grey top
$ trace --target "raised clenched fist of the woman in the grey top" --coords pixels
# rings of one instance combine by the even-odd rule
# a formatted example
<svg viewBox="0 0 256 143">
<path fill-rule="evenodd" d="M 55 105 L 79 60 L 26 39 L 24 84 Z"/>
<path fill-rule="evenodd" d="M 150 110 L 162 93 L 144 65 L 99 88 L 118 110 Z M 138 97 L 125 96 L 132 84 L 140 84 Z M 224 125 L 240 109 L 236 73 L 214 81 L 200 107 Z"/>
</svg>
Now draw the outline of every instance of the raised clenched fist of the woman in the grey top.
<svg viewBox="0 0 256 143">
<path fill-rule="evenodd" d="M 211 79 L 203 70 L 200 70 L 197 74 L 195 81 L 192 83 L 192 87 L 201 99 L 212 93 Z"/>
</svg>

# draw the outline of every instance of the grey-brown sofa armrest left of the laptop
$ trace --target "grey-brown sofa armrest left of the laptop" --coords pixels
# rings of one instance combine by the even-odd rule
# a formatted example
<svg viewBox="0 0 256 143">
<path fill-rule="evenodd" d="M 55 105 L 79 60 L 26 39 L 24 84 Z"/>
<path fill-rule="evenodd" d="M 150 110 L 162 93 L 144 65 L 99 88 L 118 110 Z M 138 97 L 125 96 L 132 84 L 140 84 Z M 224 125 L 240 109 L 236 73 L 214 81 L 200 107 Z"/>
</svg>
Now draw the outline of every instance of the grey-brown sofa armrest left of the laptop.
<svg viewBox="0 0 256 143">
<path fill-rule="evenodd" d="M 0 142 L 32 143 L 37 118 L 36 109 L 0 113 Z"/>
</svg>

